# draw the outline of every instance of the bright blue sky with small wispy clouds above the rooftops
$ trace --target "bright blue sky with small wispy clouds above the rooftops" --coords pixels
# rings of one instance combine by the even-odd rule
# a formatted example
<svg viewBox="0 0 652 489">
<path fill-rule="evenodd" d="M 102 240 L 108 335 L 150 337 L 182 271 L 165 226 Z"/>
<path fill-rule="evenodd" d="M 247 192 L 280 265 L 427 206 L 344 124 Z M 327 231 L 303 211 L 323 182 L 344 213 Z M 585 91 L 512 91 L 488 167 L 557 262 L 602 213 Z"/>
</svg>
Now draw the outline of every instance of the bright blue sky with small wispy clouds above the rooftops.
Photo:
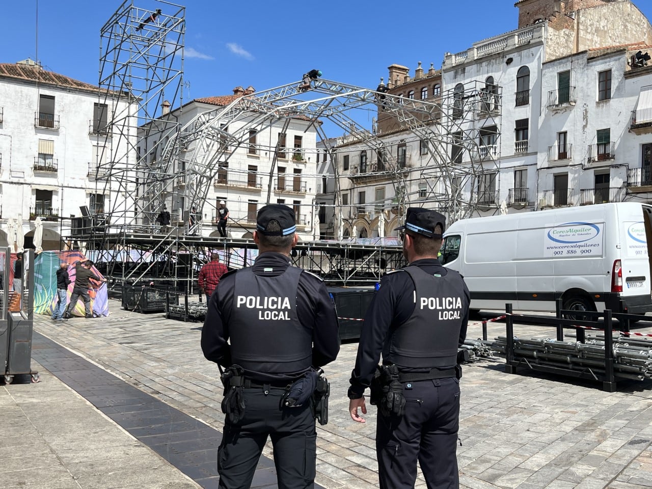
<svg viewBox="0 0 652 489">
<path fill-rule="evenodd" d="M 552 0 L 551 0 L 552 1 Z M 652 18 L 652 2 L 634 1 Z M 0 62 L 37 57 L 37 0 L 3 2 Z M 38 59 L 44 67 L 98 83 L 100 27 L 119 1 L 38 1 Z M 141 8 L 164 8 L 142 0 Z M 185 101 L 266 89 L 317 68 L 323 78 L 376 87 L 393 63 L 439 68 L 445 52 L 516 29 L 514 0 L 301 2 L 188 0 Z M 189 90 L 189 93 L 188 93 Z"/>
</svg>

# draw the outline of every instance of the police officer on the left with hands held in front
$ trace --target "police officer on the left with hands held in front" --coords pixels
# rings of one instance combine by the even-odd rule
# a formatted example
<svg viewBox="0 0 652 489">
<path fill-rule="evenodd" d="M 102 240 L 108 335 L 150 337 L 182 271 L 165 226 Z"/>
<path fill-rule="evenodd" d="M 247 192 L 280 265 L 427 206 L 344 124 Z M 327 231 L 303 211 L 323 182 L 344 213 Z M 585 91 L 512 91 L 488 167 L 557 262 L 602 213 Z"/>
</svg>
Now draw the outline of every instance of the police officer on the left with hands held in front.
<svg viewBox="0 0 652 489">
<path fill-rule="evenodd" d="M 295 228 L 290 207 L 260 209 L 254 232 L 258 258 L 252 267 L 224 274 L 209 302 L 203 354 L 227 374 L 241 367 L 244 379 L 238 382 L 242 399 L 235 403 L 244 411 L 241 419 L 231 421 L 226 411 L 217 463 L 221 489 L 250 487 L 268 436 L 278 486 L 314 487 L 314 405 L 311 400 L 287 407 L 284 395 L 288 385 L 333 361 L 340 340 L 334 304 L 321 278 L 290 266 Z"/>
</svg>

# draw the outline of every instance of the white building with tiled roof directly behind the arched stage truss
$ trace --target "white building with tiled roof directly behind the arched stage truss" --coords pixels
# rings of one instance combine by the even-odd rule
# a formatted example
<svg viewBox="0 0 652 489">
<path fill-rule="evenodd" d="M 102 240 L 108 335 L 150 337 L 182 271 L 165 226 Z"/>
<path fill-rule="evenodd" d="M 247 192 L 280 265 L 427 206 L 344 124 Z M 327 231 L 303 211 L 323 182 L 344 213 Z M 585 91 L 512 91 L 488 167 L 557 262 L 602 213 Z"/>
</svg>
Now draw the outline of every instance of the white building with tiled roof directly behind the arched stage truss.
<svg viewBox="0 0 652 489">
<path fill-rule="evenodd" d="M 226 106 L 237 97 L 253 92 L 253 87 L 236 87 L 233 95 L 198 98 L 185 104 L 182 110 L 173 110 L 164 117 L 178 117 L 183 127 L 201 113 L 214 111 L 216 107 Z M 237 122 L 220 121 L 227 132 L 243 134 L 244 131 L 247 136 L 238 143 L 233 143 L 233 140 L 225 142 L 228 147 L 224 154 L 228 157 L 217 162 L 207 197 L 196 209 L 201 215 L 198 231 L 201 235 L 219 237 L 216 209 L 220 200 L 224 200 L 229 209 L 228 237 L 251 238 L 256 228 L 258 209 L 267 203 L 282 203 L 295 211 L 299 238 L 304 241 L 318 239 L 318 207 L 315 198 L 318 183 L 321 183 L 321 178 L 318 182 L 317 177 L 321 163 L 317 162 L 314 123 L 306 117 L 294 117 L 290 119 L 284 133 L 284 121 L 265 127 L 249 126 L 249 123 L 246 117 Z M 146 136 L 147 126 L 142 126 L 139 134 L 139 151 L 151 152 L 151 148 L 155 147 L 155 141 L 151 139 L 156 136 Z M 201 141 L 190 143 L 175 162 L 175 173 L 179 177 L 173 188 L 169 188 L 165 200 L 173 221 L 174 216 L 182 216 L 177 222 L 172 222 L 173 225 L 183 226 L 183 216 L 187 216 L 190 211 L 189 198 L 185 192 L 188 179 L 184 175 L 187 175 L 190 168 L 188 158 L 197 155 L 194 151 L 198 144 Z M 158 147 L 158 151 L 162 151 L 162 146 Z M 151 153 L 148 157 L 154 161 L 159 156 L 160 153 Z M 161 210 L 151 209 L 150 212 L 156 215 Z"/>
</svg>

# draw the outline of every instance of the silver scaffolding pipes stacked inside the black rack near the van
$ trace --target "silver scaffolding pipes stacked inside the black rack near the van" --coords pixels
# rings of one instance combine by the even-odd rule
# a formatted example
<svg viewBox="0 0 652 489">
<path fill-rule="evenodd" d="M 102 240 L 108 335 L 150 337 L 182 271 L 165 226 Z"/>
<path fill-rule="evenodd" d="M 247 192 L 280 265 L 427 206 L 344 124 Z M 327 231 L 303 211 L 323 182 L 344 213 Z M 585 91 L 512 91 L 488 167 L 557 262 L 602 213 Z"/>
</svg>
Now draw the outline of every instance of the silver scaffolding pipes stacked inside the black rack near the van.
<svg viewBox="0 0 652 489">
<path fill-rule="evenodd" d="M 574 337 L 572 334 L 567 334 Z M 602 339 L 600 339 L 602 338 Z M 498 336 L 491 344 L 492 351 L 505 355 L 507 337 Z M 619 378 L 652 379 L 652 341 L 614 337 L 614 374 Z M 584 343 L 561 342 L 551 338 L 518 338 L 514 336 L 515 359 L 527 362 L 604 375 L 604 334 L 587 336 Z"/>
</svg>

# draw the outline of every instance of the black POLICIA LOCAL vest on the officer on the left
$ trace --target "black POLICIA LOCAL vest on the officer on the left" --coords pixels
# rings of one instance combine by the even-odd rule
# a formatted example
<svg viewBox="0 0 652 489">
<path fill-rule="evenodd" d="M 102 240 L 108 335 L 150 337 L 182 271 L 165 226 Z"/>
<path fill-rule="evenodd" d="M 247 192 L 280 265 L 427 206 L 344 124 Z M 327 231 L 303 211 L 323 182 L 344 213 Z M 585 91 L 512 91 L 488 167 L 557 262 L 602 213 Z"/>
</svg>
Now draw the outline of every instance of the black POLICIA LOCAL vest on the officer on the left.
<svg viewBox="0 0 652 489">
<path fill-rule="evenodd" d="M 297 318 L 301 273 L 297 267 L 278 276 L 259 276 L 250 268 L 235 273 L 229 321 L 233 364 L 266 374 L 293 374 L 310 367 L 312 328 Z"/>
</svg>

